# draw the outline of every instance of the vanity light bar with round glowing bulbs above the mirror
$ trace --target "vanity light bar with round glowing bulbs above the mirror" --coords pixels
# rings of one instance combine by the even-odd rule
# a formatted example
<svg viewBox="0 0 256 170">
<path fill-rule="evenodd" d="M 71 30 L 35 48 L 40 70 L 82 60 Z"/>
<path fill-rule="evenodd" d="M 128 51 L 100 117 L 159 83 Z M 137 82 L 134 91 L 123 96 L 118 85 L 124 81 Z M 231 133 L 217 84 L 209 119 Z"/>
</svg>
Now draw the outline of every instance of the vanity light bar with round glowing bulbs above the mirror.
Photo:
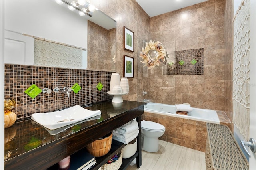
<svg viewBox="0 0 256 170">
<path fill-rule="evenodd" d="M 85 16 L 87 14 L 88 16 L 92 17 L 92 12 L 95 10 L 98 10 L 93 4 L 87 4 L 86 0 L 77 0 L 68 2 L 68 0 L 55 0 L 57 4 L 65 4 L 68 5 L 68 9 L 71 11 L 74 11 L 75 9 L 78 10 L 78 13 L 80 16 Z M 90 14 L 89 14 L 90 12 Z"/>
</svg>

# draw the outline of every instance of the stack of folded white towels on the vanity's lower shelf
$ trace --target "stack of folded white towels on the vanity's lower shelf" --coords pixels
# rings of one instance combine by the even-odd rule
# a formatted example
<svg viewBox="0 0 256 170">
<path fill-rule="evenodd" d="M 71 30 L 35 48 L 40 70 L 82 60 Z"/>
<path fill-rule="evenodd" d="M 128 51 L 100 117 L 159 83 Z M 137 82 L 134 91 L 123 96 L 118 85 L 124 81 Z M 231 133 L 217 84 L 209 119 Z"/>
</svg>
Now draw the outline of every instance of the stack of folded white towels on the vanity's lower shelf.
<svg viewBox="0 0 256 170">
<path fill-rule="evenodd" d="M 132 120 L 113 131 L 112 138 L 124 144 L 134 140 L 139 134 L 138 122 Z"/>
</svg>

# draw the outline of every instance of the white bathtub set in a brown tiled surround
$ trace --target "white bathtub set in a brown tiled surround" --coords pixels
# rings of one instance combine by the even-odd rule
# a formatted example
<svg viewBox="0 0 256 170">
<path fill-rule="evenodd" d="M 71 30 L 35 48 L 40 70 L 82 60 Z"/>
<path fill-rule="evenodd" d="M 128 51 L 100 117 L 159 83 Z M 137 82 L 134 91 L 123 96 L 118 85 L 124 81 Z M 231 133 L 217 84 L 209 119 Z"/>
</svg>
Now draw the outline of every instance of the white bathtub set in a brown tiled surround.
<svg viewBox="0 0 256 170">
<path fill-rule="evenodd" d="M 193 110 L 191 112 L 188 112 L 188 115 L 179 115 L 176 114 L 175 105 L 166 105 L 150 102 L 144 105 L 144 112 L 220 124 L 217 112 L 209 109 L 199 109 L 193 107 Z"/>
</svg>

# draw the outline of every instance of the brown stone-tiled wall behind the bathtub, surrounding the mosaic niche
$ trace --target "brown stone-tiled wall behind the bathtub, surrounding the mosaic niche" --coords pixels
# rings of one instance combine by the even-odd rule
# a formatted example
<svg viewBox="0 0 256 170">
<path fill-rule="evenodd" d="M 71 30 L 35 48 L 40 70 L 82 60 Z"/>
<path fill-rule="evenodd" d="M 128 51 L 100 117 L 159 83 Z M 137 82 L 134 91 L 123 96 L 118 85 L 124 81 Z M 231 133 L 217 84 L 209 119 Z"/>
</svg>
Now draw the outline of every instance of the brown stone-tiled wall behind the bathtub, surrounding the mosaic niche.
<svg viewBox="0 0 256 170">
<path fill-rule="evenodd" d="M 147 99 L 224 110 L 225 3 L 225 0 L 208 0 L 150 18 L 150 39 L 162 41 L 168 53 L 204 49 L 204 74 L 163 75 L 163 66 L 144 70 L 144 78 L 149 83 Z"/>
</svg>

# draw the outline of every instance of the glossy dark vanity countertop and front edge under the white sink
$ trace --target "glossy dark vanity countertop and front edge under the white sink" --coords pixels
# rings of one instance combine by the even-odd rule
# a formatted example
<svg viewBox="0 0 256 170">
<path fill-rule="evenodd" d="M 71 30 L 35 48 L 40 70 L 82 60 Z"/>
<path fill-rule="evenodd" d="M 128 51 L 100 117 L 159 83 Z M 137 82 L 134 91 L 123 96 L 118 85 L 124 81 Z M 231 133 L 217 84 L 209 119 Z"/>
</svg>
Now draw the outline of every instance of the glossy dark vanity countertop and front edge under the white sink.
<svg viewBox="0 0 256 170">
<path fill-rule="evenodd" d="M 25 162 L 30 160 L 35 164 L 42 163 L 42 160 L 51 162 L 49 165 L 55 164 L 115 128 L 142 115 L 144 105 L 146 103 L 124 101 L 121 106 L 114 108 L 111 100 L 84 105 L 82 107 L 89 110 L 100 110 L 101 118 L 74 125 L 56 135 L 49 134 L 41 125 L 32 123 L 31 119 L 14 123 L 12 127 L 5 129 L 5 168 L 13 168 L 12 164 L 20 168 L 21 166 L 29 167 L 24 167 L 25 159 L 27 159 Z M 49 155 L 50 153 L 54 155 Z"/>
</svg>

